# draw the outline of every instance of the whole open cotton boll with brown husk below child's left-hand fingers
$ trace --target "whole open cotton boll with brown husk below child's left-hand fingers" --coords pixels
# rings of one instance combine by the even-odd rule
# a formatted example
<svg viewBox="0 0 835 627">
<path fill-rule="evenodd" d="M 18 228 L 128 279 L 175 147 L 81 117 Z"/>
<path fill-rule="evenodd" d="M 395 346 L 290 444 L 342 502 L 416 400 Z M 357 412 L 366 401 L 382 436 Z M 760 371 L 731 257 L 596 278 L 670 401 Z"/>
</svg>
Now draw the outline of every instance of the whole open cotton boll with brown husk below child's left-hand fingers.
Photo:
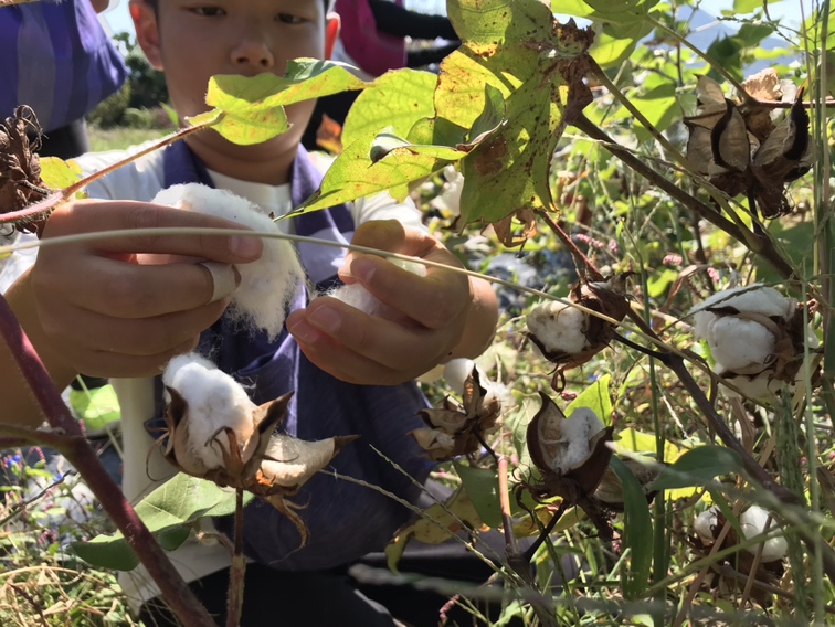
<svg viewBox="0 0 835 627">
<path fill-rule="evenodd" d="M 171 360 L 162 382 L 168 401 L 166 459 L 193 477 L 262 497 L 296 524 L 305 544 L 307 528 L 286 497 L 356 436 L 306 442 L 273 433 L 292 393 L 257 406 L 240 383 L 194 353 Z"/>
</svg>

